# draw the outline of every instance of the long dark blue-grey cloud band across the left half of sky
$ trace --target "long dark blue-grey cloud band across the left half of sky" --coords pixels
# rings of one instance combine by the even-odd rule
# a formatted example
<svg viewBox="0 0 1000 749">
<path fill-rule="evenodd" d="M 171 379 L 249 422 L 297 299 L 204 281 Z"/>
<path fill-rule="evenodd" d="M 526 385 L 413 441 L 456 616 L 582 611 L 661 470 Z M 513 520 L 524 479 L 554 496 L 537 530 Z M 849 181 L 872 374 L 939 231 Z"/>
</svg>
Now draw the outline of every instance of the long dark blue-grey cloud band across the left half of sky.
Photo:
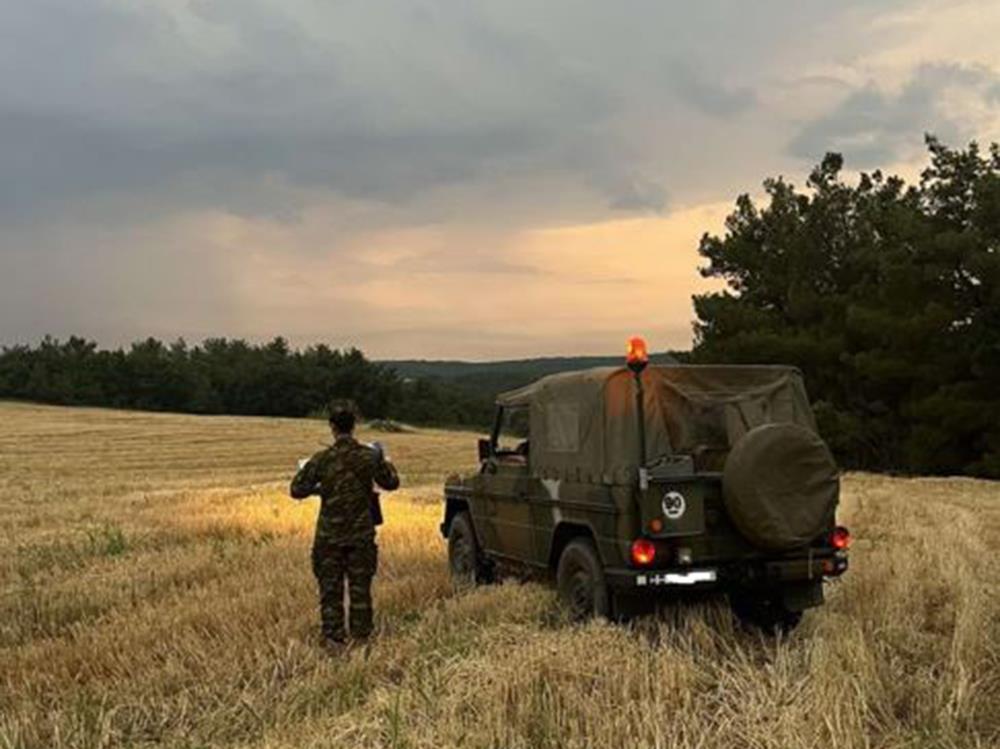
<svg viewBox="0 0 1000 749">
<path fill-rule="evenodd" d="M 200 176 L 170 209 L 223 206 L 263 214 L 248 176 L 280 173 L 293 183 L 392 202 L 418 190 L 469 180 L 494 159 L 538 150 L 530 131 L 299 132 L 248 128 L 178 138 L 55 115 L 0 113 L 0 216 L 37 218 L 46 205 L 100 191 L 154 190 L 183 175 Z M 239 188 L 232 194 L 218 188 Z M 241 199 L 242 193 L 247 200 Z"/>
</svg>

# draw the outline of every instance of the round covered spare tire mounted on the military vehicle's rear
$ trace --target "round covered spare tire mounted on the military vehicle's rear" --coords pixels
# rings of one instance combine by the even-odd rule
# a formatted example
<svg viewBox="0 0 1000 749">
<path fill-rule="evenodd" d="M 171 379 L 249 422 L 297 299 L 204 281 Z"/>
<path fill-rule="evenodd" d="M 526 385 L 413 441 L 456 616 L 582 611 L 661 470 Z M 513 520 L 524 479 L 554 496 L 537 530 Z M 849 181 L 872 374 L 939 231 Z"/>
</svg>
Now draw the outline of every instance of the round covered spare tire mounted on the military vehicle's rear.
<svg viewBox="0 0 1000 749">
<path fill-rule="evenodd" d="M 750 543 L 783 551 L 804 546 L 833 523 L 840 479 L 819 435 L 798 424 L 764 424 L 726 457 L 722 492 L 729 517 Z"/>
</svg>

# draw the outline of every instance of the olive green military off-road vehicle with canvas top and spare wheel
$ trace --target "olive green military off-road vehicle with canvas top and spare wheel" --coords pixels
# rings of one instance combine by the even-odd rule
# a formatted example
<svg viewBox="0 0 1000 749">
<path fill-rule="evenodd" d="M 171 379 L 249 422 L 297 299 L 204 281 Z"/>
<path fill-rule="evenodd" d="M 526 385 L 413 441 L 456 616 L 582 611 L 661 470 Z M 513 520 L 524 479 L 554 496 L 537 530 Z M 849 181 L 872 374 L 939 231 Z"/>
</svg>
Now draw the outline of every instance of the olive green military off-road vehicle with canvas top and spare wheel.
<svg viewBox="0 0 1000 749">
<path fill-rule="evenodd" d="M 479 458 L 444 490 L 459 583 L 541 573 L 577 618 L 719 591 L 787 630 L 847 569 L 838 470 L 791 367 L 551 375 L 498 396 Z"/>
</svg>

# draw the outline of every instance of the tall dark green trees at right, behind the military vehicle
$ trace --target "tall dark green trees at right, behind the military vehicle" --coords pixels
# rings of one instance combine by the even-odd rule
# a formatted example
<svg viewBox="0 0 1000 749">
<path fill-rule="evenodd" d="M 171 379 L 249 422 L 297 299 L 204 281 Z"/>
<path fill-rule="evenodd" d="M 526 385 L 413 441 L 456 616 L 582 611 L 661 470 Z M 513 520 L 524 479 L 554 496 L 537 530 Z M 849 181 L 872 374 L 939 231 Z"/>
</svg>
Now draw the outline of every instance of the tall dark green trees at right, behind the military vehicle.
<svg viewBox="0 0 1000 749">
<path fill-rule="evenodd" d="M 695 361 L 795 364 L 849 467 L 1000 477 L 1000 148 L 928 136 L 916 184 L 844 179 L 740 196 L 705 235 Z"/>
</svg>

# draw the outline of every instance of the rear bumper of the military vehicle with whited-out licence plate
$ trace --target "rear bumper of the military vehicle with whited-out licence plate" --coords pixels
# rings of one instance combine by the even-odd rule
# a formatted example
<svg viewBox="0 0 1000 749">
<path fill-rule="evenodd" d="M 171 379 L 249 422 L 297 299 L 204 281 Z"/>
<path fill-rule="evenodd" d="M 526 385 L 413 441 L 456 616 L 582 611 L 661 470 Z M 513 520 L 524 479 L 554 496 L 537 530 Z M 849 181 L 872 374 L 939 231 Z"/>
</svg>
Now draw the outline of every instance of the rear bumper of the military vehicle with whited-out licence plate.
<svg viewBox="0 0 1000 749">
<path fill-rule="evenodd" d="M 847 554 L 813 555 L 793 559 L 754 559 L 724 565 L 692 565 L 664 569 L 605 569 L 608 586 L 621 591 L 657 591 L 757 587 L 820 582 L 847 571 Z"/>
</svg>

